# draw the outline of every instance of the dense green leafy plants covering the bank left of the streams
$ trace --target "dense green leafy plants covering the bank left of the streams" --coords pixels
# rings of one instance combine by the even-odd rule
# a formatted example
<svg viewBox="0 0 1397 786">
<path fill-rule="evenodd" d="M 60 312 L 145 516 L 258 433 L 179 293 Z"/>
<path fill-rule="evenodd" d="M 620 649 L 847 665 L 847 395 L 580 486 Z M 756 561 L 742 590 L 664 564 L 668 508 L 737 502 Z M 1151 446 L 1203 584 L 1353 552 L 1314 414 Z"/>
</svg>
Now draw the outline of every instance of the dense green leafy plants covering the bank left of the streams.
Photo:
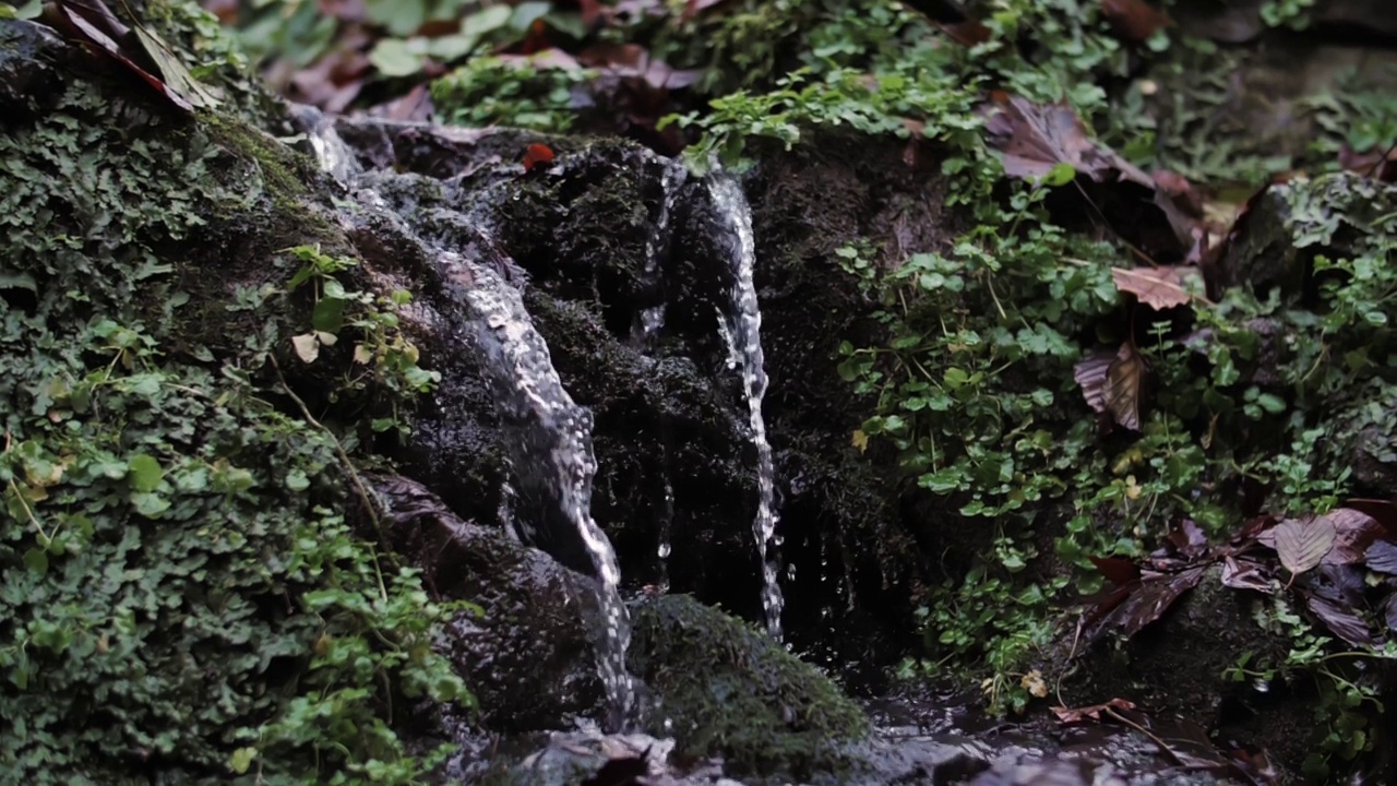
<svg viewBox="0 0 1397 786">
<path fill-rule="evenodd" d="M 278 287 L 270 255 L 200 239 L 312 227 L 261 190 L 271 159 L 177 117 L 115 123 L 141 115 L 108 90 L 74 84 L 0 138 L 0 769 L 420 780 L 434 759 L 394 729 L 416 696 L 467 698 L 432 650 L 455 610 L 346 522 L 353 434 L 277 406 L 284 327 L 324 312 Z M 422 389 L 390 359 L 411 354 L 391 310 L 331 287 L 339 257 L 302 253 L 317 303 L 348 303 L 319 327 L 384 358 L 342 387 Z M 225 276 L 257 270 L 228 303 Z"/>
</svg>

